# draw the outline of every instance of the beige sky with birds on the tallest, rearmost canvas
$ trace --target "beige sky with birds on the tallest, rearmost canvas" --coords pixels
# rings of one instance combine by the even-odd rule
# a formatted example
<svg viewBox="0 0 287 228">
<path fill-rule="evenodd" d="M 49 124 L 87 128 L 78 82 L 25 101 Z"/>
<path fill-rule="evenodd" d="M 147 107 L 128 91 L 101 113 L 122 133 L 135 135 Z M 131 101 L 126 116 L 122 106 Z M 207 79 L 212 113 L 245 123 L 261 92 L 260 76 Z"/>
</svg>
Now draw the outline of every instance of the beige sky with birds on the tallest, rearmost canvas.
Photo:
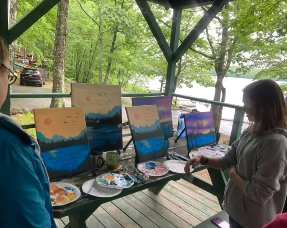
<svg viewBox="0 0 287 228">
<path fill-rule="evenodd" d="M 72 105 L 84 107 L 85 114 L 108 113 L 122 104 L 120 85 L 71 83 Z"/>
</svg>

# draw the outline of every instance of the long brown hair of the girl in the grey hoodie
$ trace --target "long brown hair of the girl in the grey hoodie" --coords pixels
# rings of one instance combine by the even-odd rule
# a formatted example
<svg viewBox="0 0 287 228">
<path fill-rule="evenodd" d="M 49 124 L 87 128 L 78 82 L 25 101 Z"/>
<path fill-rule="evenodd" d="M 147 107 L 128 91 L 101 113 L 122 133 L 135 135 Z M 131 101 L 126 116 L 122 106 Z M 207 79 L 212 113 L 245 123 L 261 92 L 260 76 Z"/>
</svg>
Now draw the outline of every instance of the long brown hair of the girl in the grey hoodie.
<svg viewBox="0 0 287 228">
<path fill-rule="evenodd" d="M 249 126 L 253 136 L 274 128 L 287 129 L 287 105 L 275 81 L 254 81 L 244 88 L 243 94 L 255 105 L 255 121 Z"/>
</svg>

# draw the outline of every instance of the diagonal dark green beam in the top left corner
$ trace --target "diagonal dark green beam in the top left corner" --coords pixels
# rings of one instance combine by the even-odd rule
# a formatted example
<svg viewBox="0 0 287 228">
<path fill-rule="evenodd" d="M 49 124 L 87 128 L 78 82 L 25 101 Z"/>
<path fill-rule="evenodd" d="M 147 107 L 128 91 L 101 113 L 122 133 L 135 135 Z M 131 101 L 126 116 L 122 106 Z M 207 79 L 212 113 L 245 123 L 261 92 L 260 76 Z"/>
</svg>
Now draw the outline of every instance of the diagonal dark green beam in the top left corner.
<svg viewBox="0 0 287 228">
<path fill-rule="evenodd" d="M 9 29 L 8 44 L 15 41 L 21 34 L 30 28 L 37 20 L 52 9 L 60 0 L 43 0 L 20 21 Z"/>
</svg>

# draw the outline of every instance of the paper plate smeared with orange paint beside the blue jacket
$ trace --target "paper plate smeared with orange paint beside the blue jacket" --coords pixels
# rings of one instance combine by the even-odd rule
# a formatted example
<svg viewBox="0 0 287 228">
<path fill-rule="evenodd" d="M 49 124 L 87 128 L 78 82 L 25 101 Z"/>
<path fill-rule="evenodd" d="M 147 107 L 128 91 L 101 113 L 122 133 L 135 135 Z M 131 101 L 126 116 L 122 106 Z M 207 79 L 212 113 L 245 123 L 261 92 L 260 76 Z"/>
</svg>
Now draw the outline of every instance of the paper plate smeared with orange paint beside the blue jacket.
<svg viewBox="0 0 287 228">
<path fill-rule="evenodd" d="M 50 198 L 52 207 L 62 206 L 79 199 L 81 191 L 75 185 L 64 182 L 50 183 Z"/>
</svg>

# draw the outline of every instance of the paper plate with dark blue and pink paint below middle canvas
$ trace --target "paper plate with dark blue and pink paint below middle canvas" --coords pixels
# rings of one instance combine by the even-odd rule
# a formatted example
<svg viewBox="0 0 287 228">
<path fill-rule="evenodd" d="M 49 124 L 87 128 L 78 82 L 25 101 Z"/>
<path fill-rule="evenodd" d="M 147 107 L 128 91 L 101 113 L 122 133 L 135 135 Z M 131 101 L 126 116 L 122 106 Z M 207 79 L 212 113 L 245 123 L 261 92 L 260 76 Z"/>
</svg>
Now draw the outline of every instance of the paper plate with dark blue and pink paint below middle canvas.
<svg viewBox="0 0 287 228">
<path fill-rule="evenodd" d="M 152 177 L 161 177 L 169 172 L 169 167 L 158 161 L 147 161 L 139 163 L 138 170 Z"/>
</svg>

